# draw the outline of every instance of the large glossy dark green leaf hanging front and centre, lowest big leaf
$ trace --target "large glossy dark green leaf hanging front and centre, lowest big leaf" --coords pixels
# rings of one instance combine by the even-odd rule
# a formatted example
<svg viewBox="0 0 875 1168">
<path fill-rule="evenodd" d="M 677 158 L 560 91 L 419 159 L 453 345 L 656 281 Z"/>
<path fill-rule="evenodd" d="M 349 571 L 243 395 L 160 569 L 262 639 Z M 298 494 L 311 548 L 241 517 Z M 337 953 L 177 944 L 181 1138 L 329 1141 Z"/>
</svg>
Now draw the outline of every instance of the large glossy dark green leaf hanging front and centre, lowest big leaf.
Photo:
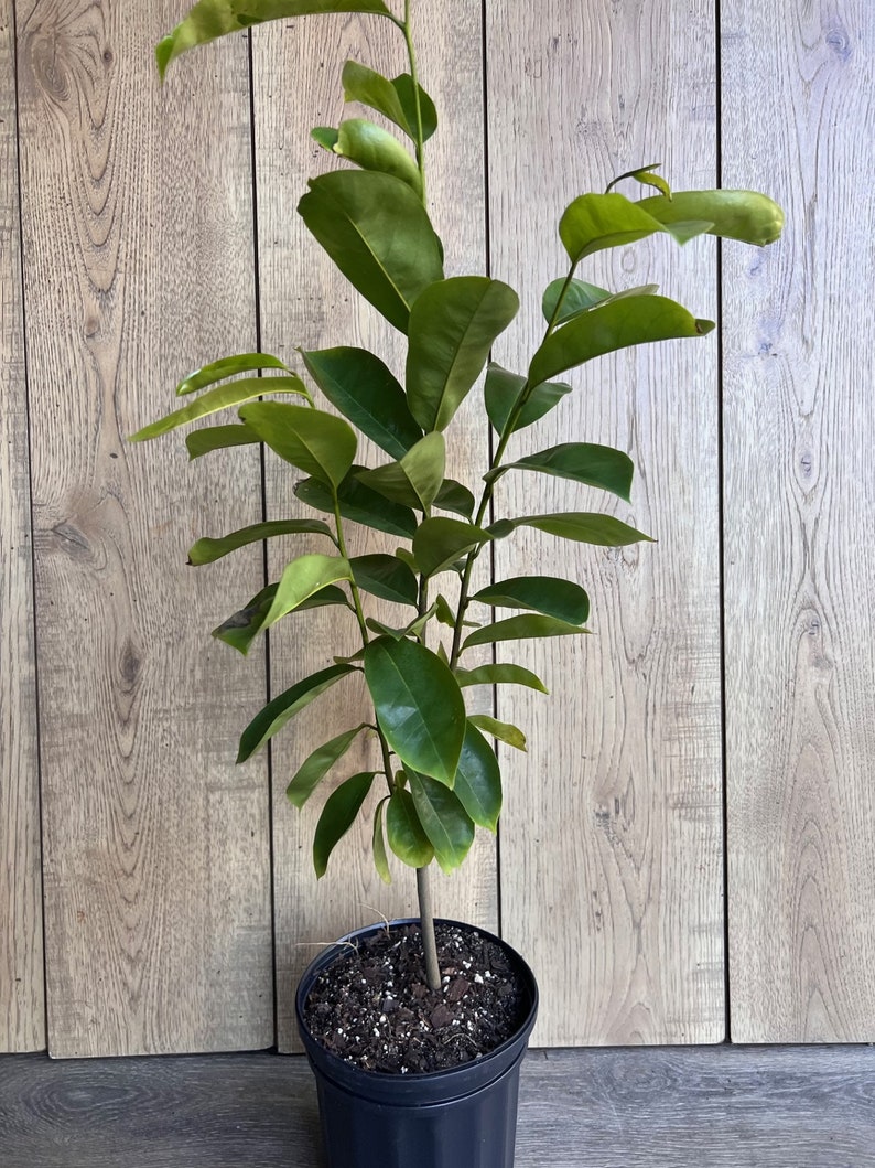
<svg viewBox="0 0 875 1168">
<path fill-rule="evenodd" d="M 453 784 L 464 737 L 464 700 L 449 668 L 414 641 L 380 638 L 364 656 L 377 718 L 406 766 Z"/>
</svg>

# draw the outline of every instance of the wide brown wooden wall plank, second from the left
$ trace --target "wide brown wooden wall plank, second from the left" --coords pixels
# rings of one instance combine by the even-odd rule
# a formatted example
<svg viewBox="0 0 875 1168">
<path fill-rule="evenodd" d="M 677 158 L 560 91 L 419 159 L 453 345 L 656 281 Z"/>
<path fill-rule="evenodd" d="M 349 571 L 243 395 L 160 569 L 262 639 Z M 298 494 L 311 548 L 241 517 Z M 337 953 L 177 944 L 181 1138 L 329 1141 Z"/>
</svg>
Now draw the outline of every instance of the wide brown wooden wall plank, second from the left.
<svg viewBox="0 0 875 1168">
<path fill-rule="evenodd" d="M 56 1055 L 273 1037 L 265 772 L 235 773 L 228 715 L 264 673 L 209 639 L 260 563 L 184 565 L 204 513 L 258 517 L 258 459 L 125 440 L 254 342 L 246 44 L 160 91 L 183 8 L 16 6 Z"/>
</svg>

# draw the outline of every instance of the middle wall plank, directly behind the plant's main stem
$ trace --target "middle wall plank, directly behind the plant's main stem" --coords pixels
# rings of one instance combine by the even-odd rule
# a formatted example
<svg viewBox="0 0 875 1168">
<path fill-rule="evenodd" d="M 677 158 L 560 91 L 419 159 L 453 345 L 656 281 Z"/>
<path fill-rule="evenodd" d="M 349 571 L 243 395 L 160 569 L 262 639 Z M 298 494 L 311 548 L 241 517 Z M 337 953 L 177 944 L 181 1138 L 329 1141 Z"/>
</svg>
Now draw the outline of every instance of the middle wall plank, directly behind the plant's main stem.
<svg viewBox="0 0 875 1168">
<path fill-rule="evenodd" d="M 447 242 L 447 272 L 483 272 L 485 267 L 481 9 L 473 0 L 449 7 L 416 4 L 416 43 L 422 84 L 441 116 L 428 144 L 429 203 L 438 231 Z M 337 125 L 344 116 L 340 84 L 343 62 L 356 58 L 388 76 L 407 70 L 404 40 L 387 22 L 373 18 L 320 18 L 288 21 L 253 34 L 258 207 L 260 231 L 261 320 L 264 347 L 287 360 L 294 348 L 357 345 L 379 353 L 397 374 L 404 369 L 402 339 L 350 288 L 293 213 L 307 179 L 330 166 L 309 139 L 316 125 Z M 282 78 L 294 77 L 293 86 Z M 301 100 L 298 95 L 306 95 Z M 357 111 L 357 113 L 370 111 Z M 378 114 L 374 114 L 379 119 Z M 471 395 L 474 398 L 474 395 Z M 469 446 L 484 434 L 481 415 L 468 403 L 450 433 L 462 457 L 449 473 L 471 479 Z M 373 451 L 369 452 L 373 459 Z M 366 459 L 365 459 L 366 460 Z M 385 461 L 384 456 L 378 460 Z M 373 465 L 373 463 L 372 463 Z M 288 513 L 293 477 L 272 460 L 267 466 L 271 515 Z M 474 488 L 475 481 L 469 481 Z M 378 534 L 357 533 L 352 554 L 393 550 Z M 298 554 L 304 549 L 299 542 Z M 274 549 L 271 578 L 282 568 Z M 357 628 L 351 613 L 328 609 L 293 616 L 272 632 L 273 691 L 330 663 L 338 652 L 338 624 L 345 621 L 350 651 Z M 384 619 L 388 613 L 383 613 Z M 398 610 L 392 617 L 398 620 Z M 278 1034 L 281 1049 L 294 1049 L 293 994 L 307 962 L 326 943 L 358 925 L 416 912 L 415 882 L 410 869 L 394 867 L 394 882 L 384 885 L 371 858 L 370 825 L 354 830 L 338 847 L 318 885 L 313 874 L 312 840 L 322 798 L 303 812 L 289 807 L 285 788 L 296 767 L 321 742 L 369 717 L 362 690 L 345 679 L 287 728 L 275 741 L 274 855 L 276 919 Z M 341 779 L 376 764 L 374 744 L 359 739 L 337 767 Z M 378 799 L 371 795 L 373 804 Z M 435 871 L 435 904 L 440 915 L 487 927 L 497 923 L 495 848 L 490 837 L 475 844 L 464 869 L 453 877 Z"/>
</svg>

